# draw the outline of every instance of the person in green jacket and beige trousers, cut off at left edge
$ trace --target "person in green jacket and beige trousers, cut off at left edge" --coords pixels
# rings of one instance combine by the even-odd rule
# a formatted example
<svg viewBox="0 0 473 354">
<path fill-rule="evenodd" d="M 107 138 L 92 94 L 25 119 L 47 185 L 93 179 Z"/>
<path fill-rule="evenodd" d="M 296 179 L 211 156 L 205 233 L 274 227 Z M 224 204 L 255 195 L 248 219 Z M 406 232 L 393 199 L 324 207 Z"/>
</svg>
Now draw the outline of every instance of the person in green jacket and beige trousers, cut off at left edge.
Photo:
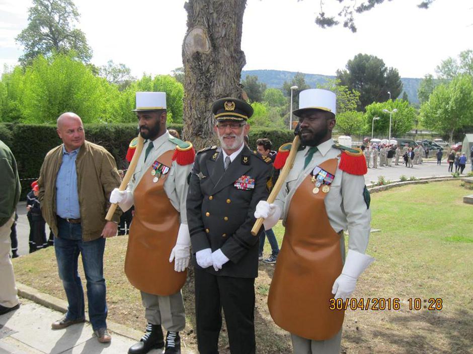
<svg viewBox="0 0 473 354">
<path fill-rule="evenodd" d="M 10 148 L 0 140 L 0 315 L 20 306 L 10 260 L 10 231 L 20 192 L 17 162 Z"/>
</svg>

